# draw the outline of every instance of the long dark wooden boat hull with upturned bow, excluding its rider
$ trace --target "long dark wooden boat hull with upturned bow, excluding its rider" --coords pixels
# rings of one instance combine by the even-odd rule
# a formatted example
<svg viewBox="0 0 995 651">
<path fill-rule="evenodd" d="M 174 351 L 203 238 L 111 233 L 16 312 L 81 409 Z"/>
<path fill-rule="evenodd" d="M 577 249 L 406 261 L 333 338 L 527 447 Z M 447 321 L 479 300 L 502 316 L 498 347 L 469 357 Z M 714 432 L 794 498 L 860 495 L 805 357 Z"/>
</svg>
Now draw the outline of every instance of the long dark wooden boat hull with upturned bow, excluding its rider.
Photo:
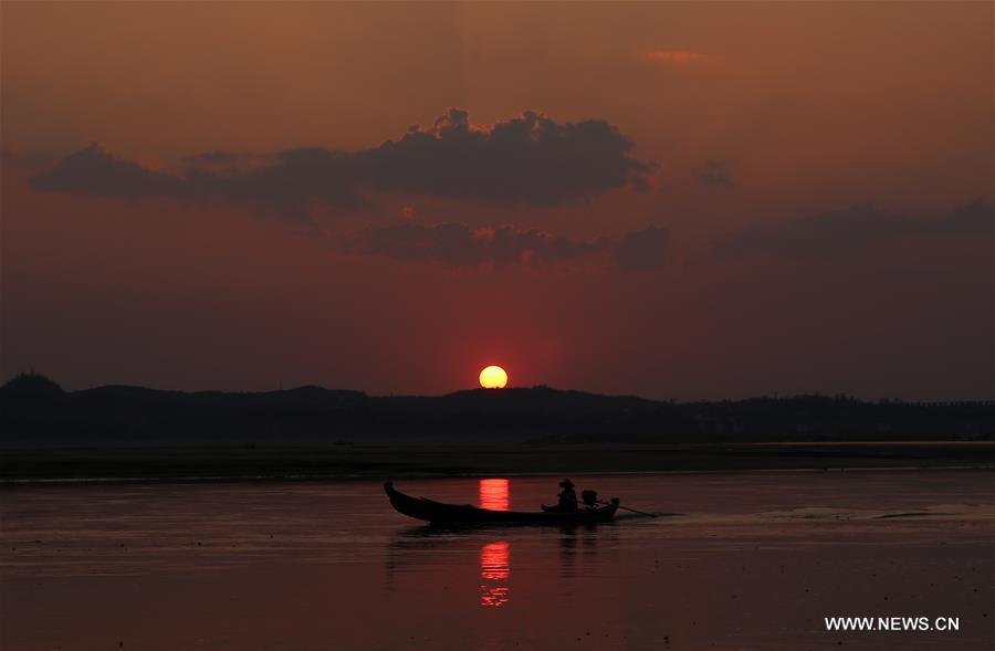
<svg viewBox="0 0 995 651">
<path fill-rule="evenodd" d="M 578 511 L 555 511 L 543 507 L 541 512 L 493 511 L 470 504 L 443 504 L 425 497 L 411 497 L 394 487 L 394 482 L 384 484 L 390 505 L 409 517 L 432 524 L 494 523 L 494 524 L 593 524 L 610 522 L 618 511 L 618 497 L 599 508 Z"/>
</svg>

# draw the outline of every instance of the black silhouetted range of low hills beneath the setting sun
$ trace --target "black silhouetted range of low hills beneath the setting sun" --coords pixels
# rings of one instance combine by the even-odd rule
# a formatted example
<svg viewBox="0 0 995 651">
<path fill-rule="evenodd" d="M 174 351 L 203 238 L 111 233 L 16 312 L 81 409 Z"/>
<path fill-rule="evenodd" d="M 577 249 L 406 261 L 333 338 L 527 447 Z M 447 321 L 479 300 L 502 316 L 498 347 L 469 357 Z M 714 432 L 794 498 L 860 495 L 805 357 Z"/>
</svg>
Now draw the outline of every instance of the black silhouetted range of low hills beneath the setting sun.
<svg viewBox="0 0 995 651">
<path fill-rule="evenodd" d="M 378 437 L 465 441 L 991 440 L 995 403 L 796 396 L 670 402 L 548 387 L 447 396 L 367 396 L 105 386 L 63 391 L 40 375 L 0 387 L 7 444 L 300 444 Z"/>
</svg>

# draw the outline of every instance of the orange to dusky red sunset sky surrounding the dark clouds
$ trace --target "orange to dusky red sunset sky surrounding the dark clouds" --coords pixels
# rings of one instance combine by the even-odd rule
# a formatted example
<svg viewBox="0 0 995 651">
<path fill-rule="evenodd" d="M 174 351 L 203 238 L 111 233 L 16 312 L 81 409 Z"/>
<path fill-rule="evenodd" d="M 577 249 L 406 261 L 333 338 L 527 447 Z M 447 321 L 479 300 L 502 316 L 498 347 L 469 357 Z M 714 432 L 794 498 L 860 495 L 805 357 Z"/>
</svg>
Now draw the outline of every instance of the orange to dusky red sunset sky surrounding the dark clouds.
<svg viewBox="0 0 995 651">
<path fill-rule="evenodd" d="M 493 361 L 513 385 L 654 397 L 995 393 L 991 229 L 951 218 L 993 201 L 991 3 L 6 2 L 0 19 L 4 377 L 439 392 Z M 604 120 L 656 164 L 649 187 L 509 204 L 375 179 L 364 206 L 308 199 L 301 220 L 231 192 L 30 185 L 90 143 L 171 174 L 208 151 L 371 151 L 450 107 L 484 127 Z M 377 249 L 400 222 L 605 244 L 454 267 Z M 647 227 L 660 262 L 626 266 Z"/>
</svg>

